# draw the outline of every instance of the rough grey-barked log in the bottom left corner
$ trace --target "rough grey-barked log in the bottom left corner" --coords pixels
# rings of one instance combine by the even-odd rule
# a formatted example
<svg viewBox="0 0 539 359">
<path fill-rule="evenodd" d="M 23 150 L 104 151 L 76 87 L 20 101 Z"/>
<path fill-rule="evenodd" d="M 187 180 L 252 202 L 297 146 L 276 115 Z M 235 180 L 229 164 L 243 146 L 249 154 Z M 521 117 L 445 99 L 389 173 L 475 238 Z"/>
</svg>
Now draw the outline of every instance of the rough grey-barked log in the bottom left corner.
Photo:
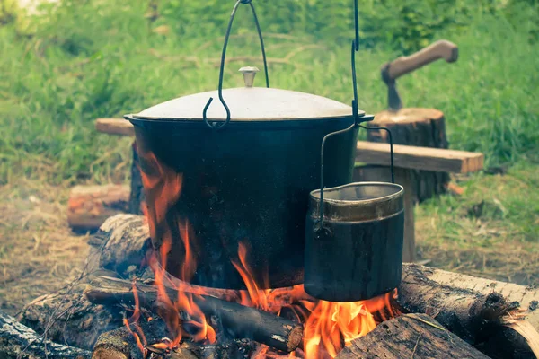
<svg viewBox="0 0 539 359">
<path fill-rule="evenodd" d="M 0 357 L 5 359 L 88 359 L 90 353 L 44 340 L 31 328 L 0 311 Z"/>
</svg>

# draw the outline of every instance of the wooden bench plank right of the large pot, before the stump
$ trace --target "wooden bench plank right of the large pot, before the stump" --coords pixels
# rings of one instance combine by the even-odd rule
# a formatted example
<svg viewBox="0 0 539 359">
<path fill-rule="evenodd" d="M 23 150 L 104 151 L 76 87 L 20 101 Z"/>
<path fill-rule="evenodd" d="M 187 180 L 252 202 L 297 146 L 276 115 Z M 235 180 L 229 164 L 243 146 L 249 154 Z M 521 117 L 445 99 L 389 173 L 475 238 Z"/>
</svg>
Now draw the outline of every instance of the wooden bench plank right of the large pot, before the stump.
<svg viewBox="0 0 539 359">
<path fill-rule="evenodd" d="M 393 145 L 395 167 L 412 170 L 466 173 L 483 168 L 482 153 L 440 148 Z M 389 145 L 358 141 L 357 162 L 390 165 Z"/>
</svg>

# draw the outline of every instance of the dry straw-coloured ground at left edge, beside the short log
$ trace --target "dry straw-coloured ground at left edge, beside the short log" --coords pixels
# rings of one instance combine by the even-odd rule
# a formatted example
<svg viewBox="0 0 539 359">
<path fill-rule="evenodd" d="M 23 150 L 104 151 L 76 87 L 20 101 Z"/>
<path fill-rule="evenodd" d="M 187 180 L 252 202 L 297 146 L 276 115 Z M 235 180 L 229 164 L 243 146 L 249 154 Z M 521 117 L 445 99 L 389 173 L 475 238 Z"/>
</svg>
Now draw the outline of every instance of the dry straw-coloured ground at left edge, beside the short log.
<svg viewBox="0 0 539 359">
<path fill-rule="evenodd" d="M 87 235 L 66 220 L 68 188 L 21 181 L 0 187 L 0 309 L 24 304 L 69 283 L 84 266 Z"/>
</svg>

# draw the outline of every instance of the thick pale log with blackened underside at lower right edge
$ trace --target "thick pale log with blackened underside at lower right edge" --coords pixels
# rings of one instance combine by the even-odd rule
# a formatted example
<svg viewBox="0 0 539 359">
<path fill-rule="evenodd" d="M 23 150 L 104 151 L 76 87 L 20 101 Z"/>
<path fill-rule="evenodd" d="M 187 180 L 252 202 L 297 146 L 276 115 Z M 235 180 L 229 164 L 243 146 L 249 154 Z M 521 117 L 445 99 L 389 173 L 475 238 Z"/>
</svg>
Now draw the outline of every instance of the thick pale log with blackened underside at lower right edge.
<svg viewBox="0 0 539 359">
<path fill-rule="evenodd" d="M 405 264 L 398 302 L 492 357 L 539 357 L 539 290 Z"/>
</svg>

